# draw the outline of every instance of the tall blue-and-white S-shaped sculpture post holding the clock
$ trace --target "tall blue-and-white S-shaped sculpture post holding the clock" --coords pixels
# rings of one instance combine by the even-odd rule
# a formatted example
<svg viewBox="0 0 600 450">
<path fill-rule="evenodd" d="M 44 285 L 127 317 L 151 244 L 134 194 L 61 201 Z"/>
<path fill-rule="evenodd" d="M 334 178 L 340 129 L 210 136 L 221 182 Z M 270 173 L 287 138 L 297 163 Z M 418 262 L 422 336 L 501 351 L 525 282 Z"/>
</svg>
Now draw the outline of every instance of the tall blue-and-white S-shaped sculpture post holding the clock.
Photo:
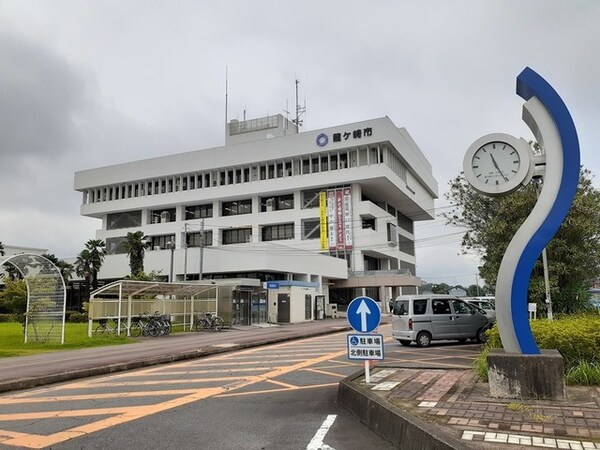
<svg viewBox="0 0 600 450">
<path fill-rule="evenodd" d="M 556 91 L 526 67 L 517 94 L 527 102 L 523 120 L 545 152 L 544 185 L 531 214 L 511 240 L 498 272 L 497 320 L 504 350 L 539 354 L 527 311 L 533 267 L 565 219 L 579 182 L 579 142 L 573 119 Z"/>
</svg>

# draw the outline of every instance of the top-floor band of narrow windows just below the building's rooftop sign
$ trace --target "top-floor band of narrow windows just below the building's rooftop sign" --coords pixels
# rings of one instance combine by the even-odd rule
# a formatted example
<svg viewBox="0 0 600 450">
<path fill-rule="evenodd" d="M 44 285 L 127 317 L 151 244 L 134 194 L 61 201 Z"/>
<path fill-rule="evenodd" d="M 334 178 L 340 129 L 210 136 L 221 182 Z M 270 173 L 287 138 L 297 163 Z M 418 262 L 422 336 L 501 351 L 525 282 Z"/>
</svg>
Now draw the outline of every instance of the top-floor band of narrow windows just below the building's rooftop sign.
<svg viewBox="0 0 600 450">
<path fill-rule="evenodd" d="M 256 163 L 243 167 L 215 169 L 86 189 L 83 192 L 83 204 L 306 175 L 383 164 L 384 162 L 406 181 L 406 165 L 396 155 L 396 152 L 391 151 L 387 145 L 377 144 L 370 147 L 335 150 L 318 155 Z"/>
</svg>

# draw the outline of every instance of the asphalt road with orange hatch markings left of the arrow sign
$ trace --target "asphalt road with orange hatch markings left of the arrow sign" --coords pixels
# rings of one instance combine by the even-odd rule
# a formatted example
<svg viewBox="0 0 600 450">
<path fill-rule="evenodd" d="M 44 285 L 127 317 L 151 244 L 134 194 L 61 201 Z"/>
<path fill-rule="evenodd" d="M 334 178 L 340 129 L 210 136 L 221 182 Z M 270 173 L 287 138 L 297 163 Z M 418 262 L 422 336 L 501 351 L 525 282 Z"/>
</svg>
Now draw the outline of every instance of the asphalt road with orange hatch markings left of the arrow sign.
<svg viewBox="0 0 600 450">
<path fill-rule="evenodd" d="M 335 402 L 346 353 L 337 333 L 3 395 L 1 448 L 391 449 Z"/>
</svg>

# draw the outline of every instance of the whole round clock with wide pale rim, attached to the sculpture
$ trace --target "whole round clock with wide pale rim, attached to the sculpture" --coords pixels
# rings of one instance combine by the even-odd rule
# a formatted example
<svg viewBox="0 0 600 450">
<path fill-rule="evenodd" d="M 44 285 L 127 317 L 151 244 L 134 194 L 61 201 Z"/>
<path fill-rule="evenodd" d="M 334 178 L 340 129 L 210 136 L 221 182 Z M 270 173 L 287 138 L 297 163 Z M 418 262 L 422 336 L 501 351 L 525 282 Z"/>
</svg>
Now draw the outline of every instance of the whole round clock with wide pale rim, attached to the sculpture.
<svg viewBox="0 0 600 450">
<path fill-rule="evenodd" d="M 473 188 L 484 195 L 509 194 L 533 175 L 531 148 L 524 139 L 493 133 L 477 139 L 465 154 L 463 170 Z"/>
</svg>

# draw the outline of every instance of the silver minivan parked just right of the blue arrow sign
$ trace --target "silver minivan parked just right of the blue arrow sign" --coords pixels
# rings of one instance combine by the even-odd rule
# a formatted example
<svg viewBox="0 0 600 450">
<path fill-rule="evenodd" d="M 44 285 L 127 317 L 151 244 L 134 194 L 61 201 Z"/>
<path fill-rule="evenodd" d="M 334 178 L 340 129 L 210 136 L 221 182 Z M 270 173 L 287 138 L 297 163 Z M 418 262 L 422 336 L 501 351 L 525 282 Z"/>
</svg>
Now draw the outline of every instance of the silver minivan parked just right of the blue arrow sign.
<svg viewBox="0 0 600 450">
<path fill-rule="evenodd" d="M 419 347 L 446 339 L 485 342 L 485 331 L 494 320 L 482 309 L 452 295 L 400 296 L 394 302 L 392 336 L 402 345 L 416 342 Z"/>
</svg>

